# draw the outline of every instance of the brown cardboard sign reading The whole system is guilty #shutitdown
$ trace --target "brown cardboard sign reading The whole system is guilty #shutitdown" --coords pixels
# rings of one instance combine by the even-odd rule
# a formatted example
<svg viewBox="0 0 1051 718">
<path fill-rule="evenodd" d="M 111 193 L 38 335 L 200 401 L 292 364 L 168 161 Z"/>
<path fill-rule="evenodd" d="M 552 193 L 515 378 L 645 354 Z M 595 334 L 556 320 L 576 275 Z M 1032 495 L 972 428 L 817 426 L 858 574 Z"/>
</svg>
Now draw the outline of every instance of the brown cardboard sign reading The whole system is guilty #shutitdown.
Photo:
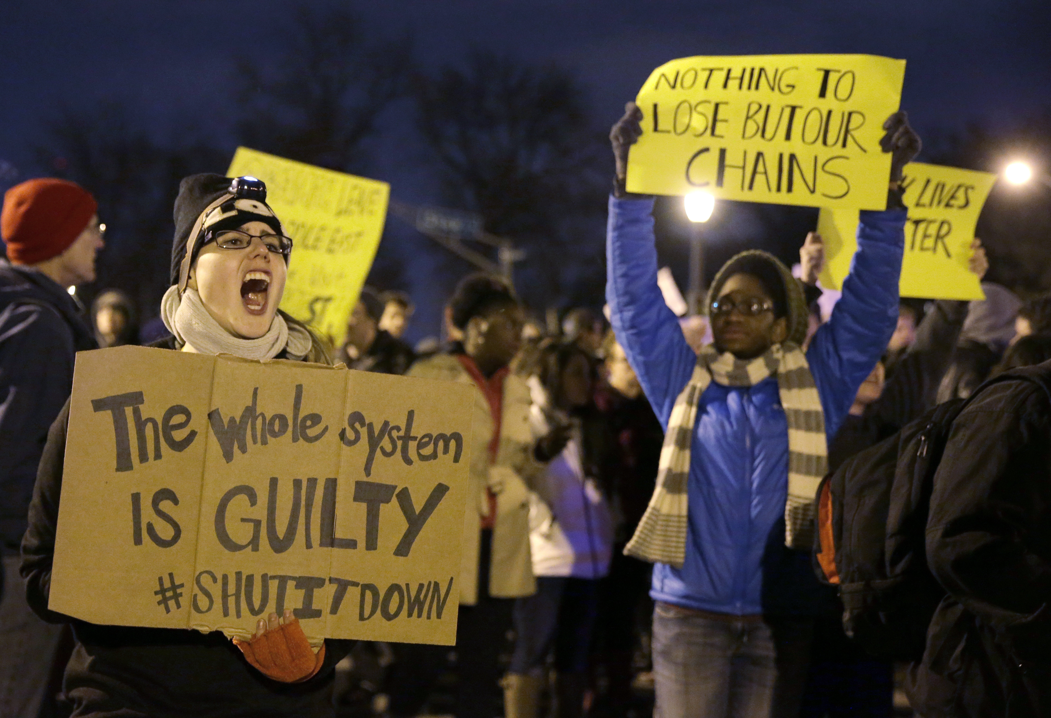
<svg viewBox="0 0 1051 718">
<path fill-rule="evenodd" d="M 49 608 L 452 644 L 468 388 L 143 347 L 77 355 Z"/>
</svg>

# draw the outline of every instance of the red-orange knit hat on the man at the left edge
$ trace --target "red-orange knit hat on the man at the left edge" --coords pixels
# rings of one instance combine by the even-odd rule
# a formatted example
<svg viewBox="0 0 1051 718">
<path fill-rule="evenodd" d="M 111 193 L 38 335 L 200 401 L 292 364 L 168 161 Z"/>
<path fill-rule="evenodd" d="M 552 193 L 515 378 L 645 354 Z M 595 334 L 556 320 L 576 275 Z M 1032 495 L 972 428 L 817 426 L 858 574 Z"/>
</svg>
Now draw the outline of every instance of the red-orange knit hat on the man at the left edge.
<svg viewBox="0 0 1051 718">
<path fill-rule="evenodd" d="M 7 190 L 0 234 L 12 264 L 37 264 L 58 257 L 87 228 L 99 209 L 90 192 L 73 182 L 41 178 Z"/>
</svg>

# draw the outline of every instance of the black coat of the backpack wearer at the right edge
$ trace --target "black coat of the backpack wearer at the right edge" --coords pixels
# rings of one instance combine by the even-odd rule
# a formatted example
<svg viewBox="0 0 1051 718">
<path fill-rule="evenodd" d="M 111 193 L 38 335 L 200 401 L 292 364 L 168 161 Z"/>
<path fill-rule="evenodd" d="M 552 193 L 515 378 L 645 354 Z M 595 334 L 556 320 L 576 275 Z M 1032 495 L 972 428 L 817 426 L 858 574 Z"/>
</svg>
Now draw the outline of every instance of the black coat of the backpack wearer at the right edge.
<svg viewBox="0 0 1051 718">
<path fill-rule="evenodd" d="M 994 385 L 955 420 L 927 558 L 949 596 L 910 676 L 913 707 L 926 718 L 1051 715 L 1051 402 L 1036 385 Z"/>
</svg>

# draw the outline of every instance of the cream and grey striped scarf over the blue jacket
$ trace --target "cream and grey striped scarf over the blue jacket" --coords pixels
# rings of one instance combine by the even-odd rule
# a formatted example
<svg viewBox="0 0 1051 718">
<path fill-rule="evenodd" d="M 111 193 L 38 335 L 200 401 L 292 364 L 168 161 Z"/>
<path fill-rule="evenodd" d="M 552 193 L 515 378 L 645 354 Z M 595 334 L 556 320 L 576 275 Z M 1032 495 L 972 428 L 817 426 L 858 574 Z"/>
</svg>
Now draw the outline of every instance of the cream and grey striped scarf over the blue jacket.
<svg viewBox="0 0 1051 718">
<path fill-rule="evenodd" d="M 751 387 L 770 374 L 778 377 L 781 406 L 788 423 L 788 500 L 785 545 L 809 550 L 813 543 L 815 494 L 828 467 L 825 415 L 803 350 L 785 342 L 754 360 L 701 350 L 697 367 L 675 401 L 660 452 L 657 487 L 624 553 L 645 561 L 682 568 L 686 556 L 686 485 L 689 448 L 701 394 L 715 379 L 729 387 Z"/>
</svg>

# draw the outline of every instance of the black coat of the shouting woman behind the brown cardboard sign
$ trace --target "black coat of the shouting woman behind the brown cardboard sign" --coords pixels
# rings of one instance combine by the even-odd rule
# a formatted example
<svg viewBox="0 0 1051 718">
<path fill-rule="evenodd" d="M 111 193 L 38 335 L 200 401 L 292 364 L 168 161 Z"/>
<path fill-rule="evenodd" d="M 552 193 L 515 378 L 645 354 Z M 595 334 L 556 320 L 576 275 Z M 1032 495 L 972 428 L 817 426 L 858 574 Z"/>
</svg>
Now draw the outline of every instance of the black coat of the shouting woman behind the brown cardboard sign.
<svg viewBox="0 0 1051 718">
<path fill-rule="evenodd" d="M 152 346 L 173 349 L 172 337 Z M 285 358 L 279 354 L 279 358 Z M 70 622 L 77 639 L 63 690 L 76 716 L 259 718 L 331 715 L 333 666 L 351 641 L 326 640 L 325 665 L 302 683 L 270 680 L 248 664 L 222 633 L 95 625 L 47 610 L 62 490 L 69 403 L 51 425 L 29 527 L 22 540 L 22 577 L 33 610 L 49 622 Z"/>
</svg>

